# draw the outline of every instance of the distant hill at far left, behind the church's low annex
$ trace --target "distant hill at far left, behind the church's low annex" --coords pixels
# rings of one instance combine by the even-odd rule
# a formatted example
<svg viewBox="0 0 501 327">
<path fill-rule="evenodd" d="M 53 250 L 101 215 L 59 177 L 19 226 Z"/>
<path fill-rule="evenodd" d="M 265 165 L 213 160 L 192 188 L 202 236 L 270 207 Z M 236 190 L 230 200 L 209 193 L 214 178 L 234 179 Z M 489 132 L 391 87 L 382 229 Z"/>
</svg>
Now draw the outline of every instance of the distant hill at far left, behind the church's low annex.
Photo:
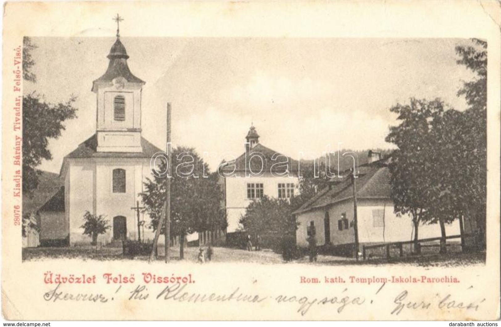
<svg viewBox="0 0 501 327">
<path fill-rule="evenodd" d="M 38 171 L 41 174 L 38 187 L 33 191 L 33 197 L 23 193 L 23 214 L 38 210 L 63 186 L 59 174 L 45 170 Z"/>
</svg>

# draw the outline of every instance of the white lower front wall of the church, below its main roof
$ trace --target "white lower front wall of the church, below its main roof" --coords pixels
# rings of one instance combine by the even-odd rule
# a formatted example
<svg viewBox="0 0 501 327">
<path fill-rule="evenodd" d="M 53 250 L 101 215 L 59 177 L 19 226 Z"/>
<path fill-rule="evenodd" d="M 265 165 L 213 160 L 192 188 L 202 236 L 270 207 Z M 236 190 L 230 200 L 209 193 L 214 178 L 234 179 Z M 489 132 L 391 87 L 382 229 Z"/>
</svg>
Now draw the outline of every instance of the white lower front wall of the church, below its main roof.
<svg viewBox="0 0 501 327">
<path fill-rule="evenodd" d="M 74 160 L 70 164 L 65 179 L 66 216 L 62 213 L 60 219 L 69 221 L 68 232 L 70 243 L 87 244 L 91 238 L 83 235 L 80 226 L 84 223 L 86 210 L 93 214 L 103 214 L 111 226 L 105 234 L 99 235 L 98 241 L 103 244 L 113 239 L 113 218 L 126 217 L 127 237 L 137 239 L 137 213 L 131 207 L 142 206 L 139 193 L 143 191 L 145 177 L 152 177 L 149 168 L 149 158 L 100 158 Z M 122 168 L 126 171 L 126 192 L 113 193 L 113 169 Z M 93 194 L 96 196 L 93 196 Z M 145 220 L 143 239 L 152 240 L 154 232 L 149 229 L 150 218 L 147 213 L 140 213 L 140 220 Z M 66 236 L 65 236 L 66 237 Z"/>
</svg>

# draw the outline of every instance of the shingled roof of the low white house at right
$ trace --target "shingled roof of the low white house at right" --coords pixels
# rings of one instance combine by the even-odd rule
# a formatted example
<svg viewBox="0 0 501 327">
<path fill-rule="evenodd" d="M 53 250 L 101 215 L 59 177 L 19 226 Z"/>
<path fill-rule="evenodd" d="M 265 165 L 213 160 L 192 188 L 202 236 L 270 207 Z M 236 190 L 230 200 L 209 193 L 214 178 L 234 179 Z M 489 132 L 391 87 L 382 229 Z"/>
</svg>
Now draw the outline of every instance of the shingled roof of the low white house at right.
<svg viewBox="0 0 501 327">
<path fill-rule="evenodd" d="M 390 198 L 391 174 L 386 162 L 378 160 L 363 164 L 359 166 L 358 170 L 359 176 L 356 184 L 358 199 Z M 353 198 L 353 184 L 349 174 L 349 171 L 345 171 L 344 177 L 339 178 L 339 181 L 330 189 L 326 187 L 319 191 L 293 214 L 311 211 Z"/>
</svg>

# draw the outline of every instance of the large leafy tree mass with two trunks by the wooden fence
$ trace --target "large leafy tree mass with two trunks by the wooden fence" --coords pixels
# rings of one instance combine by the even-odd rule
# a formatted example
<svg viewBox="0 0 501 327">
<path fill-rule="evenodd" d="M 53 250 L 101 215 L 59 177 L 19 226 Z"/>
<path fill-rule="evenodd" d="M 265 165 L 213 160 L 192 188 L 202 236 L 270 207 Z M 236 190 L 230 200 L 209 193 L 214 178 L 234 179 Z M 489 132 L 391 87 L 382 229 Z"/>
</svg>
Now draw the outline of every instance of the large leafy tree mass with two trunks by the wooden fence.
<svg viewBox="0 0 501 327">
<path fill-rule="evenodd" d="M 397 104 L 390 110 L 402 120 L 386 138 L 398 146 L 389 165 L 395 211 L 411 214 L 415 248 L 419 222 L 438 223 L 444 253 L 445 224 L 471 210 L 474 181 L 465 173 L 472 159 L 467 137 L 472 137 L 468 124 L 477 122 L 469 121 L 467 112 L 446 108 L 439 99 L 411 99 L 410 105 Z"/>
</svg>

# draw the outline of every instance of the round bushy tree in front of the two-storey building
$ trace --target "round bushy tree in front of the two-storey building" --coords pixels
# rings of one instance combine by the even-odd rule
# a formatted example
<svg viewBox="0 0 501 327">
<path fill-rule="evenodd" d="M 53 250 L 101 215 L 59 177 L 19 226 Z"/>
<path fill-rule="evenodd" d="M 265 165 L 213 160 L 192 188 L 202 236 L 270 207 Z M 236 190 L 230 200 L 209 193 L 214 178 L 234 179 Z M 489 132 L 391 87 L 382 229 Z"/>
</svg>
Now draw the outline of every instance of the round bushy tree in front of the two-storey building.
<svg viewBox="0 0 501 327">
<path fill-rule="evenodd" d="M 292 211 L 293 207 L 286 199 L 265 195 L 250 202 L 239 222 L 251 235 L 269 236 L 268 246 L 277 249 L 282 239 L 296 233 L 297 224 Z"/>
</svg>

